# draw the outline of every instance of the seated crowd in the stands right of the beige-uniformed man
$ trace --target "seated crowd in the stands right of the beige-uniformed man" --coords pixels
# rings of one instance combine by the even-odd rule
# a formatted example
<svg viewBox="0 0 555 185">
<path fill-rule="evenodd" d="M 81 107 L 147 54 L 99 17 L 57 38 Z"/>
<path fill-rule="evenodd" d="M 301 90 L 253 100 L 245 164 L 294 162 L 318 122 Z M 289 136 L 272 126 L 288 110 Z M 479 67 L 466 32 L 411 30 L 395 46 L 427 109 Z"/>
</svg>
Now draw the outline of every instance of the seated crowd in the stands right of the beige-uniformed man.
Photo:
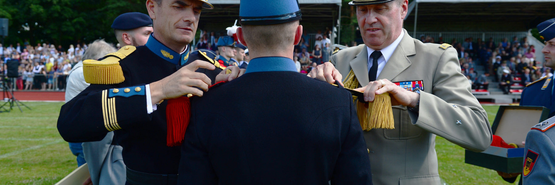
<svg viewBox="0 0 555 185">
<path fill-rule="evenodd" d="M 425 43 L 435 43 L 433 37 L 421 35 L 420 39 Z M 440 37 L 437 43 L 445 42 Z M 511 88 L 523 88 L 543 76 L 553 75 L 551 68 L 536 60 L 535 53 L 541 51 L 536 51 L 526 37 L 513 37 L 512 41 L 503 38 L 497 43 L 493 38 L 488 41 L 478 38 L 475 41 L 468 37 L 463 42 L 452 39 L 448 44 L 457 50 L 461 72 L 473 89 L 487 89 L 490 74 L 505 94 L 511 93 Z M 478 66 L 483 66 L 481 72 L 477 71 Z"/>
</svg>

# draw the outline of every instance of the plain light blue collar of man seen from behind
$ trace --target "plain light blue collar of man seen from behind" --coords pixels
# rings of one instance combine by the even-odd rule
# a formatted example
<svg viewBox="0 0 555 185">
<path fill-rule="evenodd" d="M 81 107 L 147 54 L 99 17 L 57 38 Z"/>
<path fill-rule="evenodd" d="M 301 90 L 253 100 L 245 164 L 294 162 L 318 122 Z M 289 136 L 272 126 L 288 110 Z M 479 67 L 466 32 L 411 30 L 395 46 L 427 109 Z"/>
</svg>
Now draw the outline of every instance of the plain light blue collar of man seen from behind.
<svg viewBox="0 0 555 185">
<path fill-rule="evenodd" d="M 294 71 L 297 72 L 295 62 L 286 57 L 259 57 L 253 58 L 249 62 L 249 67 L 245 73 L 266 72 L 266 71 Z"/>
</svg>

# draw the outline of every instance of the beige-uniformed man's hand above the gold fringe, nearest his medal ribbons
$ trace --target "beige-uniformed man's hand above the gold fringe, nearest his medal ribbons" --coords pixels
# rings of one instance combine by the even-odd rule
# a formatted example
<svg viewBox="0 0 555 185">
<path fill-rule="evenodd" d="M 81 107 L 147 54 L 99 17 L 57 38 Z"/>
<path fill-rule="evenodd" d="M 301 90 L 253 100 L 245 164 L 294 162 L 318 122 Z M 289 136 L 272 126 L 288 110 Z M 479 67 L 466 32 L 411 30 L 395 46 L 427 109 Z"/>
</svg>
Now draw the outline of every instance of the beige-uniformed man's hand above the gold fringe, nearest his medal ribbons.
<svg viewBox="0 0 555 185">
<path fill-rule="evenodd" d="M 382 82 L 380 81 L 383 81 L 385 85 L 382 85 Z M 387 79 L 370 82 L 367 86 L 357 88 L 355 90 L 360 92 L 364 91 L 365 102 L 372 102 L 374 101 L 376 95 L 388 92 L 391 94 L 392 106 L 403 105 L 407 107 L 415 107 L 416 103 L 420 99 L 420 94 L 407 91 L 407 89 L 401 88 Z"/>
</svg>

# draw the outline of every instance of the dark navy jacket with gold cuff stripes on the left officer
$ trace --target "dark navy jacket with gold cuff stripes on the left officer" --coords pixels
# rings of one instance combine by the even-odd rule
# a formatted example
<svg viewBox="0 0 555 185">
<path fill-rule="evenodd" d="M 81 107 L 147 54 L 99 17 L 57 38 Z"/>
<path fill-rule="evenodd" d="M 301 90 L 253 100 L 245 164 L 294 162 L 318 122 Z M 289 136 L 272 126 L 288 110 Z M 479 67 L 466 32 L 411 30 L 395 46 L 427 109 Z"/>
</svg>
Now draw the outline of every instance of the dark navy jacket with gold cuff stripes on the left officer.
<svg viewBox="0 0 555 185">
<path fill-rule="evenodd" d="M 100 141 L 114 131 L 123 147 L 123 160 L 129 169 L 144 173 L 177 174 L 179 147 L 166 146 L 166 104 L 147 113 L 145 84 L 176 72 L 179 66 L 205 57 L 171 51 L 152 35 L 145 46 L 120 61 L 125 81 L 118 84 L 91 84 L 62 106 L 58 131 L 68 142 Z M 213 82 L 221 72 L 200 68 Z M 114 93 L 113 88 L 119 91 Z M 129 88 L 130 92 L 124 92 Z M 138 91 L 137 91 L 138 90 Z"/>
</svg>

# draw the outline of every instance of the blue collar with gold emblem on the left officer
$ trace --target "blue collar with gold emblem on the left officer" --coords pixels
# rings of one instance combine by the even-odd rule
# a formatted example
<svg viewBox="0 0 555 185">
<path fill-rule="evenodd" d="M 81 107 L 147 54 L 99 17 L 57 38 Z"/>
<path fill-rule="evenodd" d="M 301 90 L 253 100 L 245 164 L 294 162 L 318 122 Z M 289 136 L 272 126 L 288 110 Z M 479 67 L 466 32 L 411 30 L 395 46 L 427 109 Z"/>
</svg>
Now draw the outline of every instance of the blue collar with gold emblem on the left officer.
<svg viewBox="0 0 555 185">
<path fill-rule="evenodd" d="M 185 48 L 185 52 L 179 54 L 166 47 L 163 43 L 158 41 L 158 39 L 154 38 L 154 34 L 150 34 L 147 44 L 145 44 L 144 46 L 147 46 L 147 48 L 149 48 L 150 51 L 152 51 L 153 53 L 157 54 L 158 57 L 164 58 L 166 61 L 178 66 L 182 66 L 183 64 L 187 63 L 189 59 L 189 46 Z"/>
</svg>

